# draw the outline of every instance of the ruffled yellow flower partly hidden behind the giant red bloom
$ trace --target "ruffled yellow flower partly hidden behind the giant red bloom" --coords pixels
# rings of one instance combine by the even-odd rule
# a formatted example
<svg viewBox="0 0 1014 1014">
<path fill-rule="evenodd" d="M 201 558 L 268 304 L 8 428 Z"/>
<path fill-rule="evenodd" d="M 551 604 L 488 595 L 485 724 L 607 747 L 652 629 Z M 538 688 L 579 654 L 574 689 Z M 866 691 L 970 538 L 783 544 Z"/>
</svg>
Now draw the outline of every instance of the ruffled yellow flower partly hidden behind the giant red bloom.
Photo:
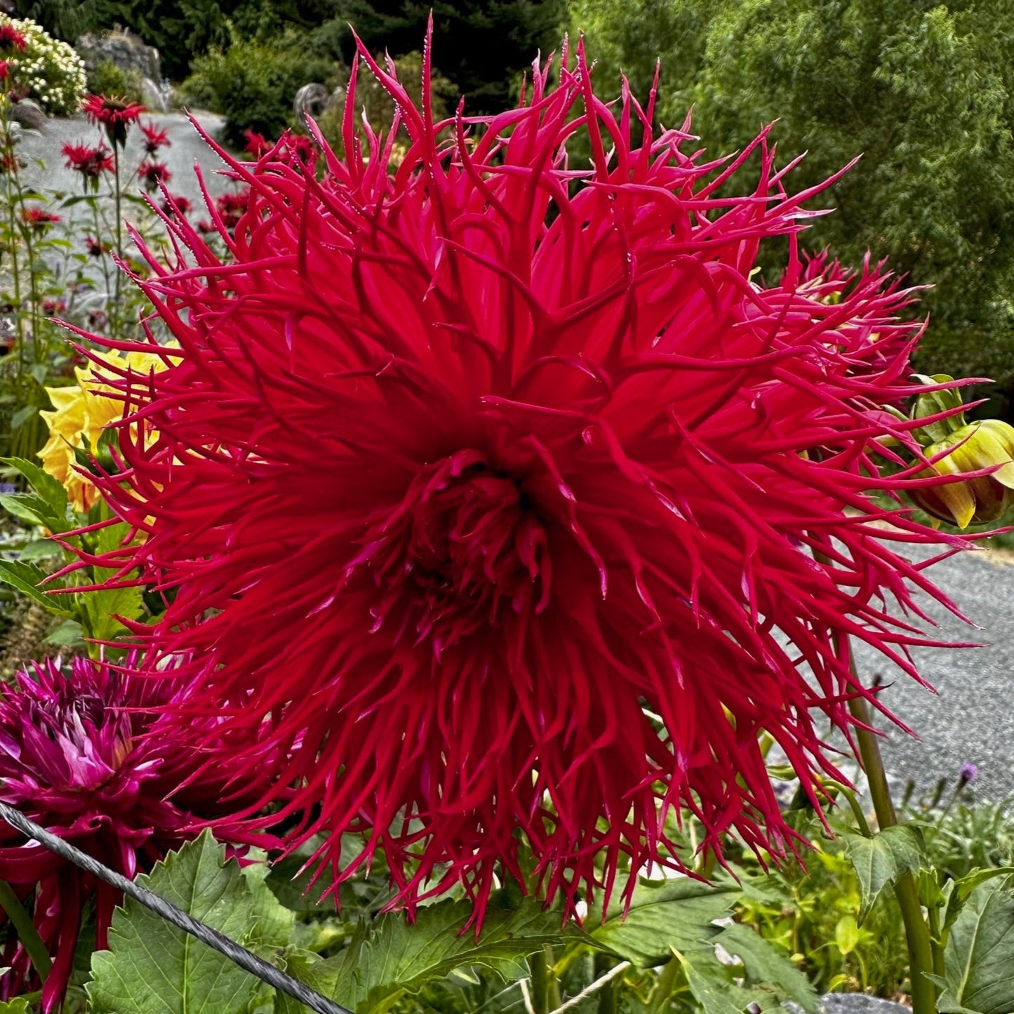
<svg viewBox="0 0 1014 1014">
<path fill-rule="evenodd" d="M 96 353 L 98 359 L 116 369 L 130 367 L 142 376 L 152 369 L 162 370 L 164 363 L 157 357 L 143 352 Z M 67 499 L 74 510 L 87 511 L 98 499 L 98 491 L 87 476 L 76 467 L 75 447 L 84 447 L 84 438 L 94 449 L 102 435 L 102 430 L 123 417 L 123 402 L 102 396 L 101 391 L 113 388 L 99 380 L 99 375 L 114 375 L 114 371 L 103 371 L 95 363 L 76 367 L 77 381 L 67 387 L 47 387 L 46 392 L 53 403 L 52 412 L 40 412 L 50 428 L 50 439 L 39 452 L 43 460 L 43 470 L 49 473 L 67 490 Z"/>
</svg>

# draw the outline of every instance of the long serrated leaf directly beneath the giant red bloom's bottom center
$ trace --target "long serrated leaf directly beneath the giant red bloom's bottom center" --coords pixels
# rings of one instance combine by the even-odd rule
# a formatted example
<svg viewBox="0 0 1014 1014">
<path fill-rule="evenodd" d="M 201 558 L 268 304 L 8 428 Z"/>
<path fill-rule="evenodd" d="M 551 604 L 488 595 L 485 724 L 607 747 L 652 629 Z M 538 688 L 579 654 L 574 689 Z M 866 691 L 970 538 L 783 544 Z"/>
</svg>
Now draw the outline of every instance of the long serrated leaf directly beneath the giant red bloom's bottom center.
<svg viewBox="0 0 1014 1014">
<path fill-rule="evenodd" d="M 421 910 L 412 926 L 400 913 L 380 916 L 368 928 L 360 924 L 334 965 L 329 963 L 331 996 L 356 1014 L 369 1014 L 467 965 L 520 977 L 527 973 L 521 962 L 529 955 L 584 936 L 563 930 L 559 913 L 546 912 L 533 898 L 517 908 L 491 904 L 478 939 L 470 930 L 461 932 L 470 914 L 466 901 L 440 901 Z"/>
</svg>

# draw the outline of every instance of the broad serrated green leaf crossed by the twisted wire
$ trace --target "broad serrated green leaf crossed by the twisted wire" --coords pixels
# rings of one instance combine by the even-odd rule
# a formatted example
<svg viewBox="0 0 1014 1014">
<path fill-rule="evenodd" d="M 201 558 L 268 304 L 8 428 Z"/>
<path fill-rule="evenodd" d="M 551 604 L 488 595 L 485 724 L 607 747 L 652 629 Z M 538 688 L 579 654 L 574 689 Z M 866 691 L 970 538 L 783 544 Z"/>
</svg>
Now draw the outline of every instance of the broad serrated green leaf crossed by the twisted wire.
<svg viewBox="0 0 1014 1014">
<path fill-rule="evenodd" d="M 245 943 L 256 907 L 234 860 L 204 831 L 138 878 L 196 919 Z M 91 959 L 91 1014 L 245 1014 L 260 980 L 131 898 L 117 909 L 110 949 Z"/>
</svg>

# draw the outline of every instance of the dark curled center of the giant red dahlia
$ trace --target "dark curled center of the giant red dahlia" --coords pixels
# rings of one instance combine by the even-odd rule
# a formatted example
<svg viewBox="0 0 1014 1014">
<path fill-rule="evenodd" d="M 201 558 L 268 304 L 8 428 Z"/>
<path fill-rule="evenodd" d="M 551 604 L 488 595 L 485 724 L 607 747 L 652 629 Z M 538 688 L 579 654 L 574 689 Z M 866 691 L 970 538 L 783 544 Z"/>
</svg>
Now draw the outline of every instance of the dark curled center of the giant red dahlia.
<svg viewBox="0 0 1014 1014">
<path fill-rule="evenodd" d="M 546 530 L 523 485 L 479 451 L 460 451 L 417 477 L 374 524 L 357 562 L 369 562 L 380 600 L 373 629 L 399 613 L 399 634 L 439 652 L 483 626 L 545 607 Z"/>
</svg>

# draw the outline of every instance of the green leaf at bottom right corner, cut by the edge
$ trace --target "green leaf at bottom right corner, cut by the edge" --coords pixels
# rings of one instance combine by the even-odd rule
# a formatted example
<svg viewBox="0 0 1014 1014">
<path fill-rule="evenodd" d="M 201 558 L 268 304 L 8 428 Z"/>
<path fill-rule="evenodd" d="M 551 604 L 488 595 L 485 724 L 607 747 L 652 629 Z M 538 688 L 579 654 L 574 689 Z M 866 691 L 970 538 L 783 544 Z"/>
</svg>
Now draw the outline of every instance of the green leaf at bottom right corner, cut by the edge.
<svg viewBox="0 0 1014 1014">
<path fill-rule="evenodd" d="M 944 948 L 941 1014 L 1014 1010 L 1014 877 L 980 883 Z"/>
</svg>

